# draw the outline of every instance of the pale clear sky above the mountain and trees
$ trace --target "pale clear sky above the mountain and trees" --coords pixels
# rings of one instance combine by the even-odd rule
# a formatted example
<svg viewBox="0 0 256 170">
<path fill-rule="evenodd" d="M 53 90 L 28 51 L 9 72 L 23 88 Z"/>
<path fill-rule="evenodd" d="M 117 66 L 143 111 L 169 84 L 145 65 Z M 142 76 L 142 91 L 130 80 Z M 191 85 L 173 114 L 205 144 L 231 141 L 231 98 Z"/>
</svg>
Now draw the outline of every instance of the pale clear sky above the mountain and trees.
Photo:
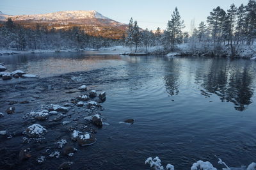
<svg viewBox="0 0 256 170">
<path fill-rule="evenodd" d="M 156 30 L 166 29 L 166 23 L 178 7 L 190 30 L 191 20 L 196 26 L 205 21 L 216 6 L 227 10 L 230 4 L 239 6 L 248 0 L 0 0 L 0 11 L 9 15 L 30 15 L 65 10 L 96 10 L 110 19 L 128 23 L 132 17 L 140 27 Z"/>
</svg>

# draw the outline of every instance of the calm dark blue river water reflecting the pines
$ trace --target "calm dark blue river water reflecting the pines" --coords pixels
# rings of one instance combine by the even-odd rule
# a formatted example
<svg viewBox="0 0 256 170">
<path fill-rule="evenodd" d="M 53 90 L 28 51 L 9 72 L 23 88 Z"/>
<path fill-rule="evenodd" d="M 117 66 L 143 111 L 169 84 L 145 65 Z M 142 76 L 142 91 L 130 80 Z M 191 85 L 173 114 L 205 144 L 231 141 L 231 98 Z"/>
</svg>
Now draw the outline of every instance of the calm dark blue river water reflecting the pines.
<svg viewBox="0 0 256 170">
<path fill-rule="evenodd" d="M 256 161 L 255 61 L 90 52 L 2 56 L 0 62 L 41 77 L 104 68 L 97 79 L 116 79 L 95 84 L 107 92 L 102 116 L 109 123 L 97 143 L 60 158 L 75 168 L 148 169 L 145 160 L 156 156 L 176 169 L 197 160 L 220 168 L 216 157 L 232 167 Z M 127 118 L 135 123 L 119 123 Z"/>
</svg>

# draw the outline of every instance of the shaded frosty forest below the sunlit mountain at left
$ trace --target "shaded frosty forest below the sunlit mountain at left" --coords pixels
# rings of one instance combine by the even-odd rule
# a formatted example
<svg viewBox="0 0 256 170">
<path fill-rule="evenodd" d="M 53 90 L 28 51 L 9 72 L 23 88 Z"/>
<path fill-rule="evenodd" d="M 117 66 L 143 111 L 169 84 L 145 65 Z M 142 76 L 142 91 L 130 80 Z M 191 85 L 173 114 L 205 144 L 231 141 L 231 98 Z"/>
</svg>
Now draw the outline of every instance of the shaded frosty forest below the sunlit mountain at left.
<svg viewBox="0 0 256 170">
<path fill-rule="evenodd" d="M 23 26 L 12 19 L 0 24 L 0 47 L 26 49 L 99 49 L 120 44 L 121 40 L 86 34 L 82 27 L 48 29 L 41 24 Z"/>
</svg>

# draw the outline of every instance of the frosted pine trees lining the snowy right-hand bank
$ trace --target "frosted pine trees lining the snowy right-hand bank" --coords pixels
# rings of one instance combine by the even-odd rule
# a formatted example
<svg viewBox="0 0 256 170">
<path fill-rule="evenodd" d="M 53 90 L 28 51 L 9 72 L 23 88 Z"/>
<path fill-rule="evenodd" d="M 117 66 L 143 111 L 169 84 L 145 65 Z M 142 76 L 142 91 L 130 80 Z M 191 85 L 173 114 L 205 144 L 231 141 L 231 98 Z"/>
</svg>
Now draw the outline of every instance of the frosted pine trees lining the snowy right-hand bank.
<svg viewBox="0 0 256 170">
<path fill-rule="evenodd" d="M 231 50 L 236 50 L 236 45 L 253 45 L 256 38 L 256 1 L 249 0 L 246 5 L 241 4 L 239 7 L 231 4 L 227 12 L 217 6 L 207 17 L 207 23 L 200 22 L 198 27 L 194 25 L 191 24 L 190 34 L 182 31 L 184 21 L 177 7 L 164 31 L 160 31 L 159 27 L 155 33 L 140 29 L 138 22 L 133 22 L 131 18 L 125 43 L 131 50 L 132 45 L 135 45 L 135 51 L 138 45 L 146 47 L 146 50 L 149 46 L 161 45 L 164 50 L 172 51 L 180 43 L 187 42 L 216 48 L 229 45 Z"/>
</svg>

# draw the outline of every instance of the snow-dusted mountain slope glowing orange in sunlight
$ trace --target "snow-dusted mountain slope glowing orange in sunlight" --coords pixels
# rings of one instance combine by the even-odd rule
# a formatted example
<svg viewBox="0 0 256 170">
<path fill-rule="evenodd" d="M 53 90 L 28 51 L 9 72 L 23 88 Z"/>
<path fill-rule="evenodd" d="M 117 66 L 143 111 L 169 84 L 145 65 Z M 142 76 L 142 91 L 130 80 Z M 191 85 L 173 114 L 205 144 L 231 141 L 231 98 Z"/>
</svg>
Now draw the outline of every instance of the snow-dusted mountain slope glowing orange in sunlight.
<svg viewBox="0 0 256 170">
<path fill-rule="evenodd" d="M 105 38 L 119 39 L 124 34 L 127 25 L 104 17 L 96 11 L 63 11 L 36 15 L 6 15 L 0 12 L 0 20 L 12 20 L 26 27 L 35 24 L 46 26 L 48 29 L 69 29 L 79 26 L 88 34 Z"/>
</svg>

